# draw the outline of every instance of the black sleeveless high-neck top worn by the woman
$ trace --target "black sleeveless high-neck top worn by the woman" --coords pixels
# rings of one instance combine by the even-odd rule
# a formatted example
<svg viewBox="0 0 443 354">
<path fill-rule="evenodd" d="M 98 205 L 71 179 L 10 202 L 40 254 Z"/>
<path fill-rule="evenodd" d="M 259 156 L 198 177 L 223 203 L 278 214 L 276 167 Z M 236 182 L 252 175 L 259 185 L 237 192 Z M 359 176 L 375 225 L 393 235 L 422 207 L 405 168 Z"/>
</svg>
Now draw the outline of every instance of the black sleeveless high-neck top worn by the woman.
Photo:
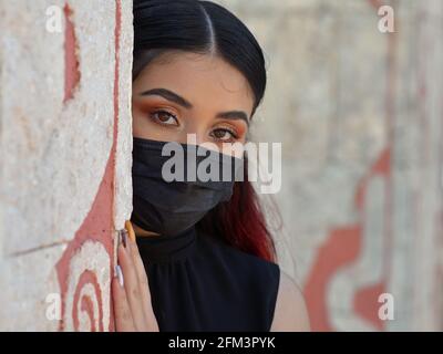
<svg viewBox="0 0 443 354">
<path fill-rule="evenodd" d="M 280 269 L 200 235 L 137 237 L 159 331 L 269 331 Z"/>
</svg>

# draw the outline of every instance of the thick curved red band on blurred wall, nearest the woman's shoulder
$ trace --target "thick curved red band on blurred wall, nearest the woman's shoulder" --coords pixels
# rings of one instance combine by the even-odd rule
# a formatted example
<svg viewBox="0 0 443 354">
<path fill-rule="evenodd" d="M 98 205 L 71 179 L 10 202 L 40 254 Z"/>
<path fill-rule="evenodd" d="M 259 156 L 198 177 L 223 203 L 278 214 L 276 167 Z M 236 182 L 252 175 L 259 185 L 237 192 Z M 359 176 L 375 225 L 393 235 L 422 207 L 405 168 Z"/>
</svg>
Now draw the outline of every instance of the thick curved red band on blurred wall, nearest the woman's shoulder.
<svg viewBox="0 0 443 354">
<path fill-rule="evenodd" d="M 313 331 L 333 331 L 329 321 L 327 287 L 331 277 L 344 266 L 357 260 L 361 227 L 350 226 L 331 231 L 327 241 L 320 247 L 316 262 L 308 275 L 305 298 Z"/>
</svg>

